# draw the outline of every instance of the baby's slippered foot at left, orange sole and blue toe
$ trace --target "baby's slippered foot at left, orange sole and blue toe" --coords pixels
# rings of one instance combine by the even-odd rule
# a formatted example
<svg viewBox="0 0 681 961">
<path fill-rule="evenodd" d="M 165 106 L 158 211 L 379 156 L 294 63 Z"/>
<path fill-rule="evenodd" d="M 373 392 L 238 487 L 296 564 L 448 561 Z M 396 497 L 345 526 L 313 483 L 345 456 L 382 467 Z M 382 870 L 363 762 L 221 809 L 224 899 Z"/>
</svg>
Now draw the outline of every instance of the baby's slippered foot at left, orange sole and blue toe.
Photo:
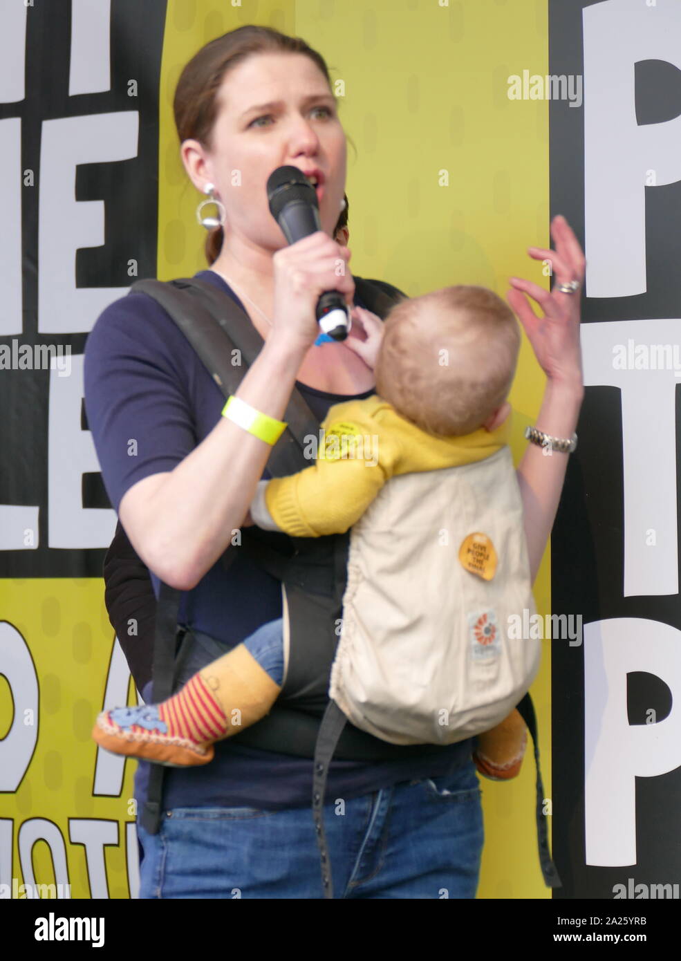
<svg viewBox="0 0 681 961">
<path fill-rule="evenodd" d="M 207 764 L 212 760 L 212 744 L 182 736 L 163 719 L 158 708 L 158 704 L 142 704 L 102 711 L 92 737 L 114 754 L 142 757 L 171 768 Z"/>
</svg>

